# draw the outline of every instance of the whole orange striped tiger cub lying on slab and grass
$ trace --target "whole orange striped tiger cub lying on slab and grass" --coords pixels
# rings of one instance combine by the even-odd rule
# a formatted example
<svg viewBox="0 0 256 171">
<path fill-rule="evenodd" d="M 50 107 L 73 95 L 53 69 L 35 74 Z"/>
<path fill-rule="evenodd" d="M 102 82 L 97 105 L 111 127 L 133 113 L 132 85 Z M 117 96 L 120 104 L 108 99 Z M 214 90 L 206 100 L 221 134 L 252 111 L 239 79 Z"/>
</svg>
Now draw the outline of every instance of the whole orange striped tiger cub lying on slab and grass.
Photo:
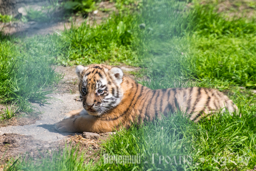
<svg viewBox="0 0 256 171">
<path fill-rule="evenodd" d="M 79 92 L 83 108 L 66 114 L 56 123 L 59 132 L 111 132 L 129 128 L 181 110 L 198 122 L 219 110 L 238 111 L 223 93 L 201 87 L 151 90 L 124 76 L 118 67 L 104 64 L 77 66 Z"/>
</svg>

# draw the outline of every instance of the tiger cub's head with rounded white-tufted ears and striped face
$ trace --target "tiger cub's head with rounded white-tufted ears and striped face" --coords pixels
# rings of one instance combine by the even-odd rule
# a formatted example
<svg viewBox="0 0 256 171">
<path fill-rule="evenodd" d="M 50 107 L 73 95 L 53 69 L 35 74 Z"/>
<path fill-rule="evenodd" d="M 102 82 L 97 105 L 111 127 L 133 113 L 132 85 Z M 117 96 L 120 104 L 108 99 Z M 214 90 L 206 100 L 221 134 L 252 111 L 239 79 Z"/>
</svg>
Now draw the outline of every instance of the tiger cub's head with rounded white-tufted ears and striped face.
<svg viewBox="0 0 256 171">
<path fill-rule="evenodd" d="M 116 107 L 122 99 L 123 72 L 103 64 L 76 67 L 83 107 L 90 115 L 100 116 Z"/>
</svg>

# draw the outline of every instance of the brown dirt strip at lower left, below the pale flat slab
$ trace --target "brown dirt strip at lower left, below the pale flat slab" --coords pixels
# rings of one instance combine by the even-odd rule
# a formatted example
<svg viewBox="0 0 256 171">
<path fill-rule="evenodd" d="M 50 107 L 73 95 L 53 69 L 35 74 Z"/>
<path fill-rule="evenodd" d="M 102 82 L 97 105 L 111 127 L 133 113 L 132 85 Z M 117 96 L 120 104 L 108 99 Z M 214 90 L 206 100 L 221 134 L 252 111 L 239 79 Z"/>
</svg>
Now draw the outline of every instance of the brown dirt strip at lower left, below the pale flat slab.
<svg viewBox="0 0 256 171">
<path fill-rule="evenodd" d="M 85 139 L 81 134 L 67 136 L 57 142 L 42 142 L 35 140 L 32 136 L 23 136 L 16 133 L 4 133 L 0 135 L 0 165 L 4 165 L 11 159 L 18 157 L 33 157 L 34 159 L 49 154 L 52 151 L 64 149 L 66 146 L 78 147 L 79 153 L 85 152 L 86 157 L 94 156 L 96 162 L 100 155 L 100 144 L 103 140 L 108 139 L 112 133 L 103 133 L 99 139 Z M 88 160 L 89 162 L 89 160 Z M 1 170 L 1 169 L 0 169 Z"/>
</svg>

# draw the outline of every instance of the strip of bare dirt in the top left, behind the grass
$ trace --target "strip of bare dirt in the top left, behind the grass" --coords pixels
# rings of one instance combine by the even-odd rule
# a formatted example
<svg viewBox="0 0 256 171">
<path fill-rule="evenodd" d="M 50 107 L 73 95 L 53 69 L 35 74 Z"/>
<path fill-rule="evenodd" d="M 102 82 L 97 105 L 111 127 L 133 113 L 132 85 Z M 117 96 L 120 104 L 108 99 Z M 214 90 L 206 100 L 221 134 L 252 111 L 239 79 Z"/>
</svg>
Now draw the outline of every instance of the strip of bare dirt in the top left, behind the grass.
<svg viewBox="0 0 256 171">
<path fill-rule="evenodd" d="M 43 23 L 37 21 L 29 21 L 27 23 L 23 23 L 21 21 L 15 21 L 11 23 L 0 24 L 0 29 L 3 28 L 6 34 L 16 36 L 31 37 L 34 35 L 46 35 L 53 33 L 60 34 L 59 32 L 64 31 L 64 29 L 70 29 L 72 23 L 74 26 L 80 26 L 84 21 L 87 20 L 87 24 L 99 24 L 115 10 L 116 8 L 114 7 L 114 3 L 105 1 L 99 3 L 99 9 L 89 13 L 87 18 L 71 14 L 71 20 L 69 19 L 70 17 L 67 16 L 65 17 L 66 19 L 63 19 L 63 16 L 66 14 L 66 12 L 64 12 L 64 9 L 62 9 L 62 11 L 60 10 L 56 12 L 56 15 L 53 16 L 52 20 L 48 22 Z"/>
</svg>

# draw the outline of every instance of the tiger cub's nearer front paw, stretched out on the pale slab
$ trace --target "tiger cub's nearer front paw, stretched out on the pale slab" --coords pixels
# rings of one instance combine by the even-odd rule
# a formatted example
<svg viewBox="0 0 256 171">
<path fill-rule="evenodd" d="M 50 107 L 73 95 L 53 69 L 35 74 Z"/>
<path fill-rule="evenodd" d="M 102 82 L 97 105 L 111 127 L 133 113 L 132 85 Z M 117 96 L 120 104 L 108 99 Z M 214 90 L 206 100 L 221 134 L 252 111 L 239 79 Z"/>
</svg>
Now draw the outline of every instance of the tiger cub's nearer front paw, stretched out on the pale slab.
<svg viewBox="0 0 256 171">
<path fill-rule="evenodd" d="M 64 119 L 55 124 L 55 129 L 58 132 L 77 132 L 73 124 L 74 119 Z"/>
</svg>

